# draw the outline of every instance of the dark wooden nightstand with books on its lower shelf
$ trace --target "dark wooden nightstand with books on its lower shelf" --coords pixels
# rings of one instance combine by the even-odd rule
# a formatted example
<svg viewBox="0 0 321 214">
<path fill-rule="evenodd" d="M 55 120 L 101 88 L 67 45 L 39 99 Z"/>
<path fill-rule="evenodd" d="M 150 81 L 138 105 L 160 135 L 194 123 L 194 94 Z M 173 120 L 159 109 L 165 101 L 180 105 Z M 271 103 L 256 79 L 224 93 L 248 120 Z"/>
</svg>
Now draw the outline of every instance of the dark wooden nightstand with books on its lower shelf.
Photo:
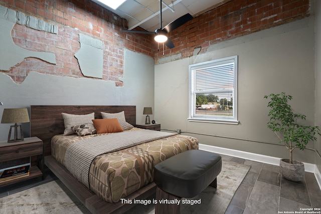
<svg viewBox="0 0 321 214">
<path fill-rule="evenodd" d="M 14 143 L 0 141 L 0 162 L 32 156 L 37 156 L 37 165 L 30 167 L 29 176 L 2 182 L 0 187 L 42 176 L 41 170 L 43 170 L 44 164 L 43 142 L 38 137 L 27 137 L 24 141 Z"/>
</svg>

